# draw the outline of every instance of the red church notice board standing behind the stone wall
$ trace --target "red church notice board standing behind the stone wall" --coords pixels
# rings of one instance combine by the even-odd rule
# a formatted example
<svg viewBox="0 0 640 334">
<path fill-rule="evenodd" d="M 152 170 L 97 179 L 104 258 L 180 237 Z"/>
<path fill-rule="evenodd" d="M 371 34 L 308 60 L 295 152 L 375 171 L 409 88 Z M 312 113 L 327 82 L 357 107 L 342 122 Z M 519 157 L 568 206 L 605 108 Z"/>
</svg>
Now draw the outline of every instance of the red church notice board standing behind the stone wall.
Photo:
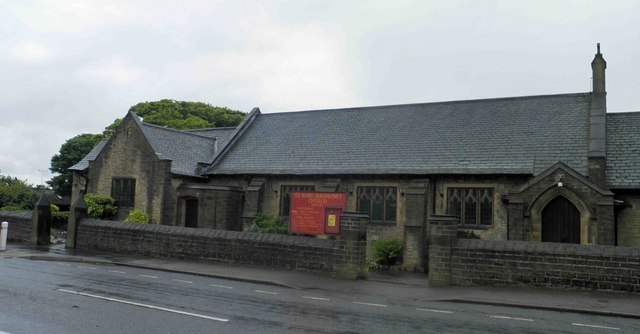
<svg viewBox="0 0 640 334">
<path fill-rule="evenodd" d="M 291 193 L 289 230 L 298 234 L 325 234 L 325 209 L 340 208 L 344 212 L 346 207 L 345 193 L 294 191 Z"/>
</svg>

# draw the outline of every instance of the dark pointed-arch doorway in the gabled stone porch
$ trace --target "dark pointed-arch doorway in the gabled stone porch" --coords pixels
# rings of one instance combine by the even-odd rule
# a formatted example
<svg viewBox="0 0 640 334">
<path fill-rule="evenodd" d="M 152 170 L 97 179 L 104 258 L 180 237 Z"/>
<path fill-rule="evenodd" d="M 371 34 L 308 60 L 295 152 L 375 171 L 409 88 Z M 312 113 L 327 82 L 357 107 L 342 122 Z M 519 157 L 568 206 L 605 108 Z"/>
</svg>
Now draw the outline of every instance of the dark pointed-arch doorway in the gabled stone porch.
<svg viewBox="0 0 640 334">
<path fill-rule="evenodd" d="M 564 196 L 542 210 L 542 242 L 580 243 L 580 211 Z"/>
</svg>

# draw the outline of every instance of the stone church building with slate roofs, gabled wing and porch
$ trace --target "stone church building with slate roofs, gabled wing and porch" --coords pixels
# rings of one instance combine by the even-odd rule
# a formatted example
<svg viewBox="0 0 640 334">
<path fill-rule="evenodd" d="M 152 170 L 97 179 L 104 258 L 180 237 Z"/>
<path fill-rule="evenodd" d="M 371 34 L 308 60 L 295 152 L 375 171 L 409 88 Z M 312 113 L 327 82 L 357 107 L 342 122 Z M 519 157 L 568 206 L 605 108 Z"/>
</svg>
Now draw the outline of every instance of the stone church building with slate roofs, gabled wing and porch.
<svg viewBox="0 0 640 334">
<path fill-rule="evenodd" d="M 414 243 L 431 215 L 483 239 L 640 245 L 640 112 L 591 92 L 262 114 L 178 131 L 129 113 L 73 166 L 72 203 L 114 197 L 153 223 L 242 230 L 293 191 L 342 192 L 371 240 Z M 409 240 L 411 239 L 411 240 Z M 424 239 L 423 239 L 424 240 Z M 405 258 L 411 257 L 406 247 Z"/>
</svg>

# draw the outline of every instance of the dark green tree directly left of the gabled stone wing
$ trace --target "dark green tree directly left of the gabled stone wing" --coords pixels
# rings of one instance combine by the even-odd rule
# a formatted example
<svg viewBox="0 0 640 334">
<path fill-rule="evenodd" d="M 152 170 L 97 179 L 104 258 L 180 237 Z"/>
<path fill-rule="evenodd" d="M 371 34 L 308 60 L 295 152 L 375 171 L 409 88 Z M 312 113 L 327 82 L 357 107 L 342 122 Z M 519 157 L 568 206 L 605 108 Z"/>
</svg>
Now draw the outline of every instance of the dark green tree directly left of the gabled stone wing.
<svg viewBox="0 0 640 334">
<path fill-rule="evenodd" d="M 60 147 L 60 152 L 51 158 L 52 173 L 57 173 L 47 184 L 58 195 L 71 195 L 71 185 L 73 182 L 73 174 L 69 167 L 77 164 L 87 153 L 91 152 L 94 146 L 102 140 L 103 135 L 95 135 L 85 133 L 77 135 L 67 140 Z"/>
</svg>

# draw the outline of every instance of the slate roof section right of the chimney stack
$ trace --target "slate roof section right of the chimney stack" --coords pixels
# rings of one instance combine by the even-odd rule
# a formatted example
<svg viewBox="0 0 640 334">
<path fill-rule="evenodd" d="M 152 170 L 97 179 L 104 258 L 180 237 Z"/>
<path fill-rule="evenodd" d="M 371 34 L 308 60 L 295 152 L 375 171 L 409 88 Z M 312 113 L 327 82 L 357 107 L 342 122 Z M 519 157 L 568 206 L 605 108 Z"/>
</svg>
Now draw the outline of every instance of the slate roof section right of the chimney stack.
<svg viewBox="0 0 640 334">
<path fill-rule="evenodd" d="M 640 189 L 640 112 L 607 114 L 607 184 Z"/>
</svg>

